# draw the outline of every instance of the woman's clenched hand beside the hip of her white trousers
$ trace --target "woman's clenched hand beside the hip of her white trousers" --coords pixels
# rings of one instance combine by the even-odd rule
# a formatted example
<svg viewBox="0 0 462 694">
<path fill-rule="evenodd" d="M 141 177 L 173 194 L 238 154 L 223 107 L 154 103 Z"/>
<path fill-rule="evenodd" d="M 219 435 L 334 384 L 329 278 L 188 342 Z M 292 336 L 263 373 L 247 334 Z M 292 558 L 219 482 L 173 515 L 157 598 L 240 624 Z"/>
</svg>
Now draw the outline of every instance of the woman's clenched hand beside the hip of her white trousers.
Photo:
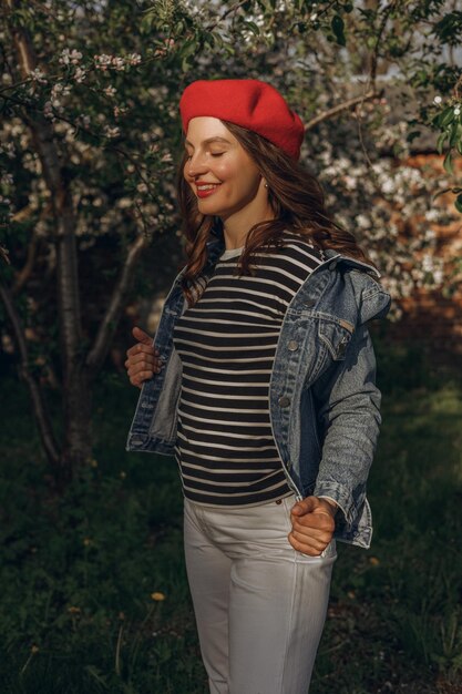
<svg viewBox="0 0 462 694">
<path fill-rule="evenodd" d="M 332 539 L 336 511 L 333 501 L 318 497 L 297 501 L 290 512 L 292 530 L 288 534 L 292 548 L 309 557 L 319 557 Z"/>
</svg>

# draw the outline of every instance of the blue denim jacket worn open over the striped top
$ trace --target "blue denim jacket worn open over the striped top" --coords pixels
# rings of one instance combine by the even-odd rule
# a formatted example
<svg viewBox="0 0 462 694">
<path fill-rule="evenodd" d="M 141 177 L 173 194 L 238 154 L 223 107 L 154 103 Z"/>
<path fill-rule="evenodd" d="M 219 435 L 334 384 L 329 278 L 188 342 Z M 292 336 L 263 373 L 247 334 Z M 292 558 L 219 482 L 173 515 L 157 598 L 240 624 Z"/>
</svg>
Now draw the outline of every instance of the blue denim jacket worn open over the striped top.
<svg viewBox="0 0 462 694">
<path fill-rule="evenodd" d="M 208 242 L 205 272 L 224 251 Z M 390 295 L 374 267 L 324 251 L 325 261 L 294 295 L 279 334 L 269 384 L 273 435 L 297 499 L 333 499 L 337 540 L 369 548 L 372 518 L 366 497 L 379 427 L 381 394 L 367 324 L 384 317 Z M 154 345 L 165 366 L 144 381 L 126 450 L 174 455 L 182 363 L 173 328 L 186 308 L 184 269 L 165 299 Z"/>
</svg>

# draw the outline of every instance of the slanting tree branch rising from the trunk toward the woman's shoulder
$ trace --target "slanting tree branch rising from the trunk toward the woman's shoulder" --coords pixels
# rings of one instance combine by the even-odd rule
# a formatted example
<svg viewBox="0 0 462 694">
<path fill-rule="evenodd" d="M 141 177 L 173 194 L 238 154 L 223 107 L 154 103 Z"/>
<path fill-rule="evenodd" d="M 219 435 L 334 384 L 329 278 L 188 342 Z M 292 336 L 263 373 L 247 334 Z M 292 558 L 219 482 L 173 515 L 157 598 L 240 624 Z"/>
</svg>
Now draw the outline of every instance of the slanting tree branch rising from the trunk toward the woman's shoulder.
<svg viewBox="0 0 462 694">
<path fill-rule="evenodd" d="M 147 237 L 144 235 L 140 235 L 129 247 L 125 263 L 113 289 L 106 313 L 103 320 L 101 322 L 100 329 L 97 331 L 93 347 L 89 356 L 86 357 L 86 366 L 90 369 L 91 377 L 94 377 L 97 374 L 106 357 L 109 346 L 117 327 L 123 303 L 130 288 L 130 284 L 133 277 L 133 271 L 136 266 L 137 259 L 143 248 L 146 245 Z"/>
</svg>

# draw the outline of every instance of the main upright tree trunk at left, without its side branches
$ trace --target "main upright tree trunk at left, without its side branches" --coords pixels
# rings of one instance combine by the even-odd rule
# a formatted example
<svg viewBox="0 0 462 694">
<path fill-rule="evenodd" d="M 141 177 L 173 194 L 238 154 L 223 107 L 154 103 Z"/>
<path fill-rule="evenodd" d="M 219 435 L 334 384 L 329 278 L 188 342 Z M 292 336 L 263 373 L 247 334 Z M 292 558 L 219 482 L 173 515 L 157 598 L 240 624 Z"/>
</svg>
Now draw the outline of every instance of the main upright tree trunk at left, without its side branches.
<svg viewBox="0 0 462 694">
<path fill-rule="evenodd" d="M 20 8 L 19 0 L 4 0 L 7 19 Z M 18 16 L 9 28 L 23 79 L 37 68 L 37 55 L 28 30 Z M 22 112 L 32 133 L 47 187 L 50 191 L 57 232 L 58 318 L 61 343 L 64 441 L 58 466 L 60 486 L 72 478 L 73 470 L 91 456 L 91 401 L 88 371 L 84 367 L 82 316 L 79 296 L 75 210 L 71 183 L 62 165 L 53 125 L 40 113 Z"/>
</svg>

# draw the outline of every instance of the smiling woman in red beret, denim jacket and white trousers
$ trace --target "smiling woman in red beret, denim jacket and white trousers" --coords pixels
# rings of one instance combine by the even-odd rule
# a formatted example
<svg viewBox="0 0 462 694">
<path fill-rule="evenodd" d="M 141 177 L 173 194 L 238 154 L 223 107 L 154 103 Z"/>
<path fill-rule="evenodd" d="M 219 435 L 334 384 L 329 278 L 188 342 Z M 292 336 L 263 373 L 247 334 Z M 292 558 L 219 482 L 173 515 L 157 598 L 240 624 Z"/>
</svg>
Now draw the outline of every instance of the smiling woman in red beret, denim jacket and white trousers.
<svg viewBox="0 0 462 694">
<path fill-rule="evenodd" d="M 181 103 L 187 263 L 154 343 L 127 450 L 175 455 L 201 650 L 214 694 L 306 694 L 337 558 L 368 548 L 380 425 L 367 322 L 389 295 L 299 164 L 300 119 L 257 80 Z"/>
</svg>

